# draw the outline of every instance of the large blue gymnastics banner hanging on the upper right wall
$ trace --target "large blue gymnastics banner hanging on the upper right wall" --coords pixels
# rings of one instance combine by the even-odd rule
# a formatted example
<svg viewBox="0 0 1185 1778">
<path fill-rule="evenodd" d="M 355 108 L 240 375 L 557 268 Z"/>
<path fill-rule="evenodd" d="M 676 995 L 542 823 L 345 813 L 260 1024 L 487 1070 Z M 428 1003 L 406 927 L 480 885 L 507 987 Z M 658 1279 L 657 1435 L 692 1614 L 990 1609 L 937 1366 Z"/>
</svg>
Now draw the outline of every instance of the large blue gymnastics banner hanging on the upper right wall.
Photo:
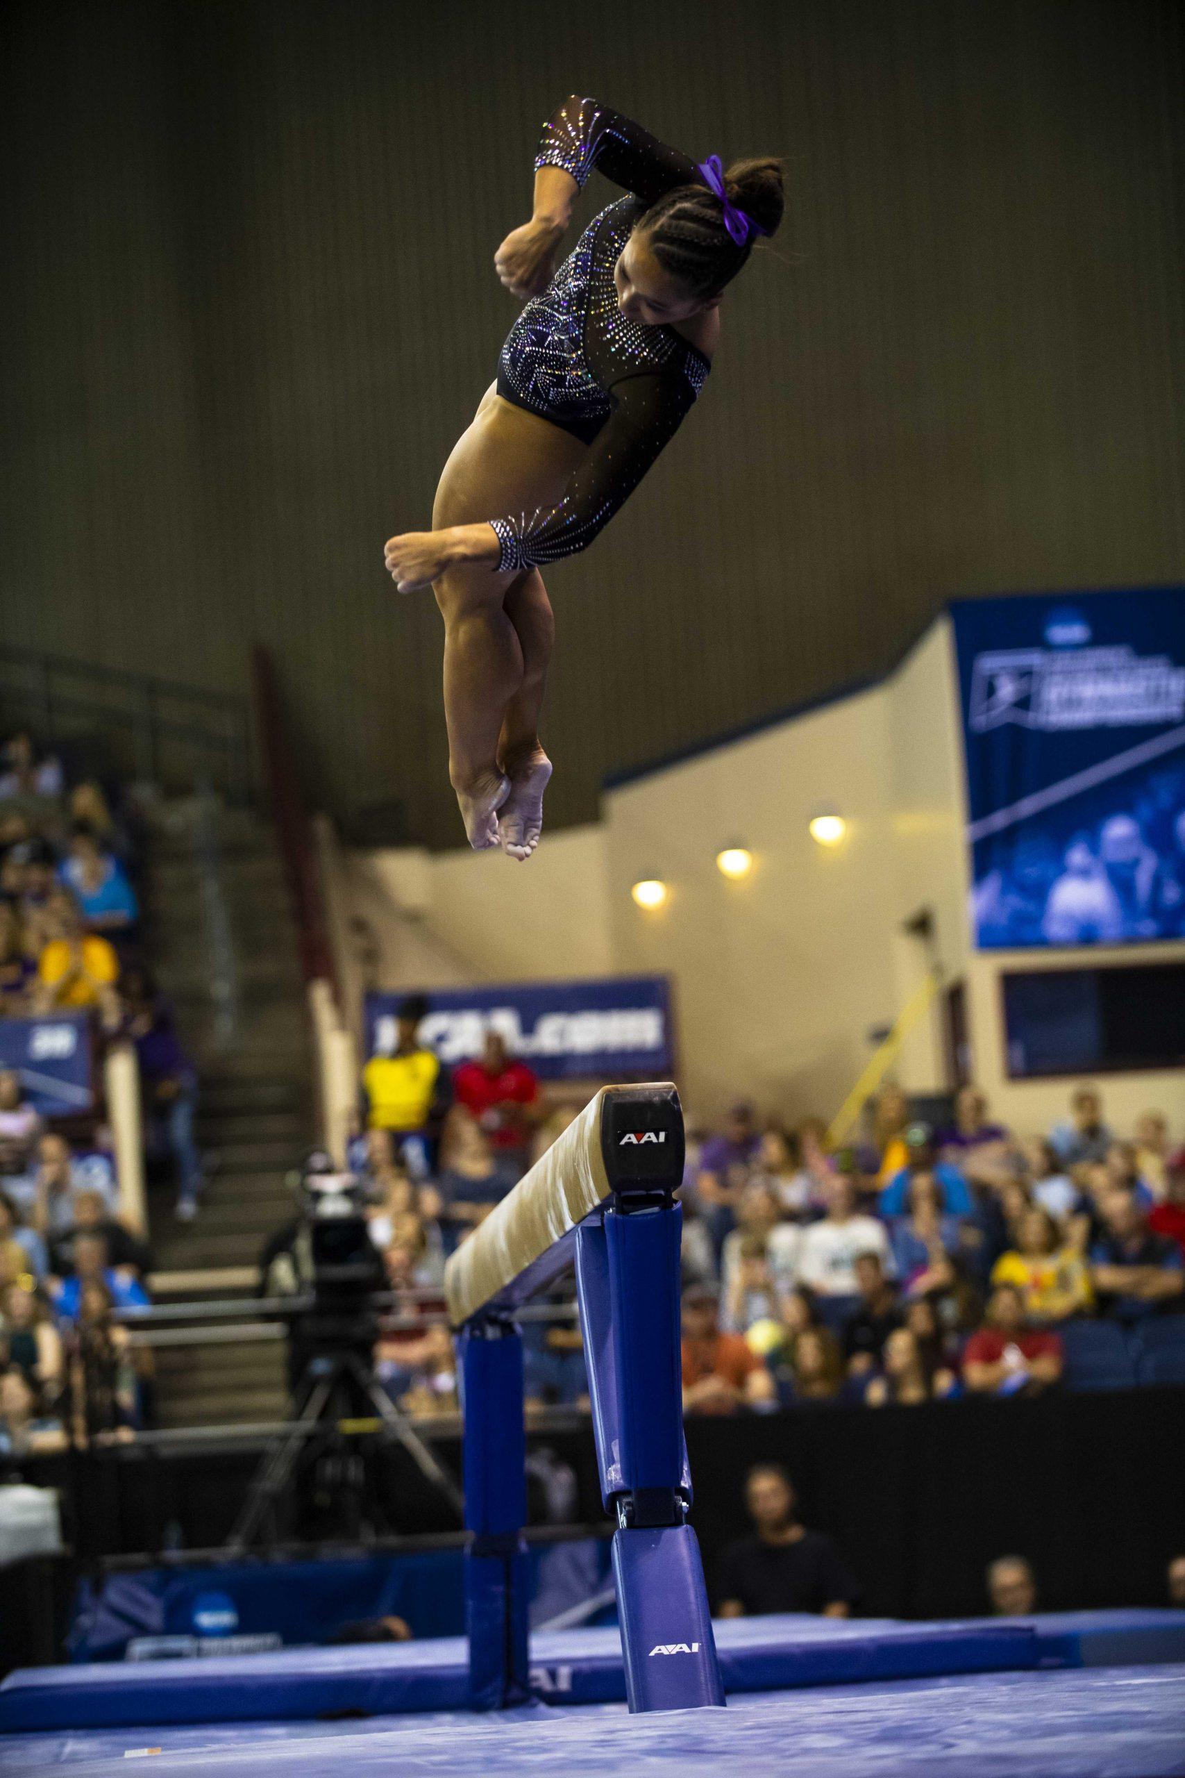
<svg viewBox="0 0 1185 1778">
<path fill-rule="evenodd" d="M 1185 937 L 1185 589 L 965 599 L 981 949 Z"/>
</svg>

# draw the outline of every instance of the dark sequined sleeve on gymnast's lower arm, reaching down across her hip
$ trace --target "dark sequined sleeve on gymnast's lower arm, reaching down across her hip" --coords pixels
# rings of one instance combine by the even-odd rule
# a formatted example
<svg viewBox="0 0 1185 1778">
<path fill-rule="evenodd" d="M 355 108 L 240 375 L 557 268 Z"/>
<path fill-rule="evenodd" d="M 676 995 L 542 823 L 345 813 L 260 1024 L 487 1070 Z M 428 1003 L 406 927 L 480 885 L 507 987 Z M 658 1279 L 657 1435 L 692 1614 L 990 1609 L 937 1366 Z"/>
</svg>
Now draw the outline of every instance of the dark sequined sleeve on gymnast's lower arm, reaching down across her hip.
<svg viewBox="0 0 1185 1778">
<path fill-rule="evenodd" d="M 638 487 L 695 400 L 686 377 L 636 372 L 613 384 L 613 411 L 569 480 L 563 500 L 490 519 L 501 544 L 496 573 L 521 571 L 586 549 Z"/>
</svg>

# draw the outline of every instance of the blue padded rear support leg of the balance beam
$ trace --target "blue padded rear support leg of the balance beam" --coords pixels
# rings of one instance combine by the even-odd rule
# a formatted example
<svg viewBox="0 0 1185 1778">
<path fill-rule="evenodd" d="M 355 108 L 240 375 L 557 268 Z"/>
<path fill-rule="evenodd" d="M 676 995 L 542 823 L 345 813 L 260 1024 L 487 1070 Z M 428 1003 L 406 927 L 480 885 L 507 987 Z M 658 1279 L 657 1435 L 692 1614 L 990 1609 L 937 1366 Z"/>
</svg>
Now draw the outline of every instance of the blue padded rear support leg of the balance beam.
<svg viewBox="0 0 1185 1778">
<path fill-rule="evenodd" d="M 503 1710 L 529 1696 L 522 1337 L 490 1316 L 469 1323 L 460 1346 L 469 1703 Z"/>
</svg>

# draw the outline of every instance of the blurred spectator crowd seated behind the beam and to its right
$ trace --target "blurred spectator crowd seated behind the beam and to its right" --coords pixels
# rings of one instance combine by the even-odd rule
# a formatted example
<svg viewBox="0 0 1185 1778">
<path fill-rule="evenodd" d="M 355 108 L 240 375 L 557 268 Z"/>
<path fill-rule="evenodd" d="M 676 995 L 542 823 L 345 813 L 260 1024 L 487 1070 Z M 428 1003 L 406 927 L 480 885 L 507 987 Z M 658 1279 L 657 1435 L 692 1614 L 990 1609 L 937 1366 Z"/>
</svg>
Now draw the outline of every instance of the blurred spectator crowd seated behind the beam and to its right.
<svg viewBox="0 0 1185 1778">
<path fill-rule="evenodd" d="M 449 1077 L 419 1042 L 425 1003 L 400 1012 L 389 1053 L 364 1070 L 350 1165 L 370 1182 L 387 1284 L 405 1309 L 439 1310 L 448 1255 L 576 1106 L 547 1111 L 496 1029 Z M 1039 1134 L 995 1122 L 975 1086 L 947 1127 L 885 1086 L 846 1147 L 817 1118 L 785 1129 L 750 1104 L 720 1129 L 691 1127 L 686 1410 L 1032 1396 L 1062 1382 L 1071 1330 L 1130 1334 L 1176 1314 L 1185 1367 L 1180 1136 L 1157 1111 L 1114 1131 L 1086 1085 Z M 576 1325 L 524 1337 L 529 1405 L 586 1406 Z M 382 1339 L 377 1366 L 409 1410 L 455 1410 L 439 1326 Z"/>
</svg>

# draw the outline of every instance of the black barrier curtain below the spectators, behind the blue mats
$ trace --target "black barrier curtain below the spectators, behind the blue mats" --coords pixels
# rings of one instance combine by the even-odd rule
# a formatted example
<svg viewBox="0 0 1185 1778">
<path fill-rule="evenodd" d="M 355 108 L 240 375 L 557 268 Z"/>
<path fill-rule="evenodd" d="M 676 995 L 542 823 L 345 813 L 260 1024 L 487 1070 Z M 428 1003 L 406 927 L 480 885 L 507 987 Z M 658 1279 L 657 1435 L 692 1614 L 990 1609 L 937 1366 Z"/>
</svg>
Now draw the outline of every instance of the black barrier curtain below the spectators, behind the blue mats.
<svg viewBox="0 0 1185 1778">
<path fill-rule="evenodd" d="M 771 1460 L 794 1476 L 805 1524 L 844 1550 L 865 1616 L 982 1614 L 984 1568 L 1006 1554 L 1030 1558 L 1046 1611 L 1164 1606 L 1169 1559 L 1185 1554 L 1180 1387 L 693 1417 L 686 1431 L 691 1522 L 712 1584 L 725 1543 L 750 1534 L 744 1476 Z M 547 1431 L 538 1442 L 576 1469 L 581 1522 L 602 1520 L 592 1430 Z M 458 1470 L 455 1438 L 441 1442 L 441 1456 Z M 185 1549 L 219 1547 L 258 1460 L 245 1451 L 91 1460 L 75 1488 L 85 1511 L 68 1538 L 82 1563 L 158 1552 L 171 1522 Z M 60 1486 L 66 1460 L 30 1462 L 25 1474 Z M 455 1529 L 402 1449 L 391 1447 L 378 1488 L 402 1533 Z M 322 1536 L 341 1531 L 320 1524 Z"/>
</svg>

